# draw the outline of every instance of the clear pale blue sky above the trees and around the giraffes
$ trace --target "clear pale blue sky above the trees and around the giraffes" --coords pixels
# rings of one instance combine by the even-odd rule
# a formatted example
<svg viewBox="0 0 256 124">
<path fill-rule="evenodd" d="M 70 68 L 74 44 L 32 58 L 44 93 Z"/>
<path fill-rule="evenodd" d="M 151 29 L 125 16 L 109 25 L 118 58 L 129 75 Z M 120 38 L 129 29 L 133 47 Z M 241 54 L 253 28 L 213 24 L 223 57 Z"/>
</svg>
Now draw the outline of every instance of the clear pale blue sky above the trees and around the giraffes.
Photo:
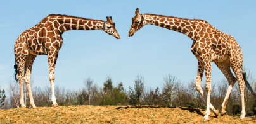
<svg viewBox="0 0 256 124">
<path fill-rule="evenodd" d="M 141 14 L 208 21 L 236 39 L 243 50 L 245 68 L 255 72 L 255 5 L 256 1 L 1 1 L 0 86 L 6 89 L 8 81 L 13 80 L 16 39 L 48 14 L 105 21 L 106 16 L 112 16 L 121 37 L 117 40 L 104 31 L 63 33 L 54 84 L 79 89 L 84 87 L 84 79 L 91 77 L 94 83 L 103 86 L 110 75 L 113 84 L 122 81 L 127 89 L 134 86 L 137 74 L 142 74 L 152 88 L 161 87 L 166 74 L 175 75 L 184 84 L 195 81 L 197 59 L 190 51 L 192 40 L 186 35 L 146 25 L 128 37 L 136 8 Z M 50 86 L 46 55 L 35 59 L 32 77 L 35 86 Z M 212 84 L 223 78 L 212 63 Z"/>
</svg>

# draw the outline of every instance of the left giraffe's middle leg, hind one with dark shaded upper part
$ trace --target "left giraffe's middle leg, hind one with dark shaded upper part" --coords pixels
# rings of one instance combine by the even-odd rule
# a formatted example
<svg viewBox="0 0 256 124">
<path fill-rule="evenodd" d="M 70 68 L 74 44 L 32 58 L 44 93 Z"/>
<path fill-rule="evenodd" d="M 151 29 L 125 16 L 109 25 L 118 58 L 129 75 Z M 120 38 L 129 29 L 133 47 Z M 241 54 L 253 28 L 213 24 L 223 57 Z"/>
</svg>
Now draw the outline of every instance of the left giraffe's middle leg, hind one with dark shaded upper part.
<svg viewBox="0 0 256 124">
<path fill-rule="evenodd" d="M 27 57 L 27 62 L 25 64 L 25 76 L 24 76 L 24 81 L 27 84 L 27 89 L 29 91 L 29 99 L 30 99 L 30 104 L 32 105 L 33 108 L 35 108 L 35 103 L 34 99 L 32 96 L 32 91 L 31 91 L 31 86 L 30 86 L 30 77 L 31 77 L 31 71 L 32 71 L 32 65 L 35 60 L 36 55 L 29 54 Z"/>
</svg>

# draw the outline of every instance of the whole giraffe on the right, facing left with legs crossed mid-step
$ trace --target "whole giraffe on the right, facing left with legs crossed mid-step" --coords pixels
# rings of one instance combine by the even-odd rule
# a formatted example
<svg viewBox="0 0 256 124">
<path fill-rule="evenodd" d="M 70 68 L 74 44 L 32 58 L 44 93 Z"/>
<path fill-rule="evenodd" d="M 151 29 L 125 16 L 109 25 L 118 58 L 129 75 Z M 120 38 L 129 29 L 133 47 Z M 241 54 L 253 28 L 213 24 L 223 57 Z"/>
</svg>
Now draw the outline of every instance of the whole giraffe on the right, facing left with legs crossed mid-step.
<svg viewBox="0 0 256 124">
<path fill-rule="evenodd" d="M 243 69 L 243 54 L 241 47 L 231 35 L 227 35 L 222 31 L 217 30 L 204 20 L 190 20 L 186 18 L 177 18 L 173 16 L 163 16 L 157 14 L 139 14 L 139 9 L 135 11 L 135 17 L 132 18 L 132 25 L 129 31 L 129 37 L 140 30 L 144 25 L 156 25 L 169 30 L 174 30 L 184 35 L 187 35 L 193 41 L 191 52 L 198 59 L 198 70 L 196 77 L 196 90 L 207 101 L 207 110 L 203 121 L 209 121 L 208 115 L 210 110 L 216 115 L 219 115 L 219 110 L 215 110 L 210 103 L 211 93 L 211 62 L 215 62 L 217 67 L 222 71 L 229 82 L 229 87 L 222 103 L 221 115 L 226 113 L 225 108 L 227 99 L 232 90 L 232 87 L 238 81 L 241 92 L 242 112 L 241 119 L 245 118 L 245 102 L 244 88 L 245 84 L 253 93 L 250 84 L 246 81 L 246 73 Z M 231 69 L 236 77 L 233 76 Z M 243 72 L 241 72 L 243 70 Z M 203 72 L 205 71 L 207 97 L 203 95 L 201 81 Z"/>
</svg>

